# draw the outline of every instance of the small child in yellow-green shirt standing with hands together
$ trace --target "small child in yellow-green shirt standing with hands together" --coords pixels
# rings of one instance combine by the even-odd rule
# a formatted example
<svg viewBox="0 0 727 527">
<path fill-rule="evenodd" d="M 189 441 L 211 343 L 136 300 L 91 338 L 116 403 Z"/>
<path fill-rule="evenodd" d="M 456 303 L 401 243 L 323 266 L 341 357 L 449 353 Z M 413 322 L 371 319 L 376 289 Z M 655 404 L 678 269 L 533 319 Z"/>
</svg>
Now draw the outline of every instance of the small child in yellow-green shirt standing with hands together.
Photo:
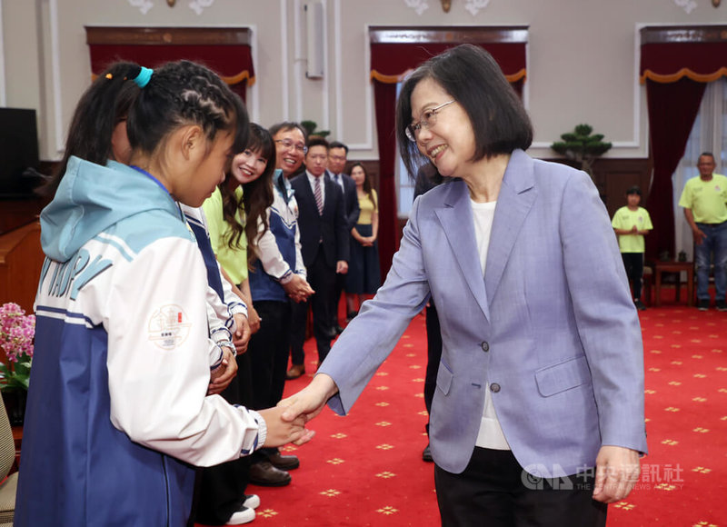
<svg viewBox="0 0 727 527">
<path fill-rule="evenodd" d="M 652 218 L 646 209 L 639 206 L 642 201 L 642 191 L 638 186 L 632 186 L 626 191 L 626 206 L 621 207 L 613 214 L 611 225 L 619 238 L 619 249 L 626 275 L 633 284 L 633 303 L 636 308 L 643 311 L 646 306 L 642 303 L 642 275 L 643 252 L 645 248 L 643 236 L 652 230 Z"/>
</svg>

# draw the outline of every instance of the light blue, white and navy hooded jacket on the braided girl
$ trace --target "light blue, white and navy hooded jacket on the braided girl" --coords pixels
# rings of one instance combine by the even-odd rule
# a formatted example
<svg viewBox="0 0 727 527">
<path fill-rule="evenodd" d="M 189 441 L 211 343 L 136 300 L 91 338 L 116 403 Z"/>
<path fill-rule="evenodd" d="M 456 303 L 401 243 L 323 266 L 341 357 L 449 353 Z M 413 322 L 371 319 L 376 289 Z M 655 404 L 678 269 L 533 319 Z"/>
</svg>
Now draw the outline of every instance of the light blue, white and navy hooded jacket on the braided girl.
<svg viewBox="0 0 727 527">
<path fill-rule="evenodd" d="M 15 525 L 178 525 L 194 469 L 263 445 L 258 413 L 206 396 L 207 275 L 161 184 L 71 158 L 41 214 L 47 256 Z"/>
</svg>

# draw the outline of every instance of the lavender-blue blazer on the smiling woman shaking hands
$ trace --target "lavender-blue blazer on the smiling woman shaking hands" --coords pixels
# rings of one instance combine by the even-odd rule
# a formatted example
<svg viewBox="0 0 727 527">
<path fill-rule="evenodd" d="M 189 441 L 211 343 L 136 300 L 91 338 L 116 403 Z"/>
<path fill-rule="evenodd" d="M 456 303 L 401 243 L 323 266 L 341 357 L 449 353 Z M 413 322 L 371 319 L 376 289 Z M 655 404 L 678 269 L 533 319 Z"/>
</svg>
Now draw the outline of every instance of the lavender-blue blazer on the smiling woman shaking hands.
<svg viewBox="0 0 727 527">
<path fill-rule="evenodd" d="M 470 461 L 488 383 L 534 475 L 594 466 L 602 445 L 646 452 L 641 328 L 588 175 L 513 152 L 484 279 L 466 184 L 417 198 L 386 282 L 319 370 L 338 385 L 334 412 L 351 409 L 430 294 L 443 340 L 430 442 L 444 470 Z"/>
</svg>

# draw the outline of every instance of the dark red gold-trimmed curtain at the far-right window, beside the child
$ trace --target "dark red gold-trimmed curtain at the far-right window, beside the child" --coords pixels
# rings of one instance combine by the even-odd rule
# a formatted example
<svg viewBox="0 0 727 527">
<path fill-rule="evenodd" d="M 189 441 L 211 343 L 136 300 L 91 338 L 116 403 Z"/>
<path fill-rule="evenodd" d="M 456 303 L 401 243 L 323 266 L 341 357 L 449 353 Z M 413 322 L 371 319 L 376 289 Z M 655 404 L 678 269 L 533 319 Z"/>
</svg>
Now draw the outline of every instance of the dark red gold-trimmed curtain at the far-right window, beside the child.
<svg viewBox="0 0 727 527">
<path fill-rule="evenodd" d="M 706 83 L 722 76 L 727 76 L 727 42 L 642 44 L 641 81 L 646 84 L 653 161 L 648 207 L 655 227 L 646 238 L 647 259 L 664 252 L 675 255 L 672 174 L 684 155 Z"/>
</svg>

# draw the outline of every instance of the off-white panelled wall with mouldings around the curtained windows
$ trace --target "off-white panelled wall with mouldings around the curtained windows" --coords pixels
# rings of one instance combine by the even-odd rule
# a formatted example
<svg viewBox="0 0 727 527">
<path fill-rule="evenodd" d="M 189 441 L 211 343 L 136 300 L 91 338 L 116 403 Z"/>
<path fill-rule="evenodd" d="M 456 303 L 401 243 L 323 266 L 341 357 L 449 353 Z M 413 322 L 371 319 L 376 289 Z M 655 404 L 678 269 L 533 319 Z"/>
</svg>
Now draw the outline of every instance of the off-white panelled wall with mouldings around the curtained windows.
<svg viewBox="0 0 727 527">
<path fill-rule="evenodd" d="M 727 5 L 714 8 L 710 0 L 453 0 L 449 14 L 437 0 L 322 0 L 325 74 L 307 79 L 307 1 L 178 0 L 169 7 L 165 0 L 0 0 L 0 97 L 38 110 L 41 155 L 55 159 L 90 82 L 84 25 L 246 26 L 254 35 L 253 119 L 311 119 L 351 144 L 352 157 L 375 159 L 369 25 L 529 25 L 531 153 L 553 156 L 548 144 L 585 122 L 614 144 L 607 156 L 645 157 L 638 28 L 727 22 Z M 476 14 L 466 8 L 476 4 Z M 415 5 L 426 7 L 421 15 Z"/>
</svg>

